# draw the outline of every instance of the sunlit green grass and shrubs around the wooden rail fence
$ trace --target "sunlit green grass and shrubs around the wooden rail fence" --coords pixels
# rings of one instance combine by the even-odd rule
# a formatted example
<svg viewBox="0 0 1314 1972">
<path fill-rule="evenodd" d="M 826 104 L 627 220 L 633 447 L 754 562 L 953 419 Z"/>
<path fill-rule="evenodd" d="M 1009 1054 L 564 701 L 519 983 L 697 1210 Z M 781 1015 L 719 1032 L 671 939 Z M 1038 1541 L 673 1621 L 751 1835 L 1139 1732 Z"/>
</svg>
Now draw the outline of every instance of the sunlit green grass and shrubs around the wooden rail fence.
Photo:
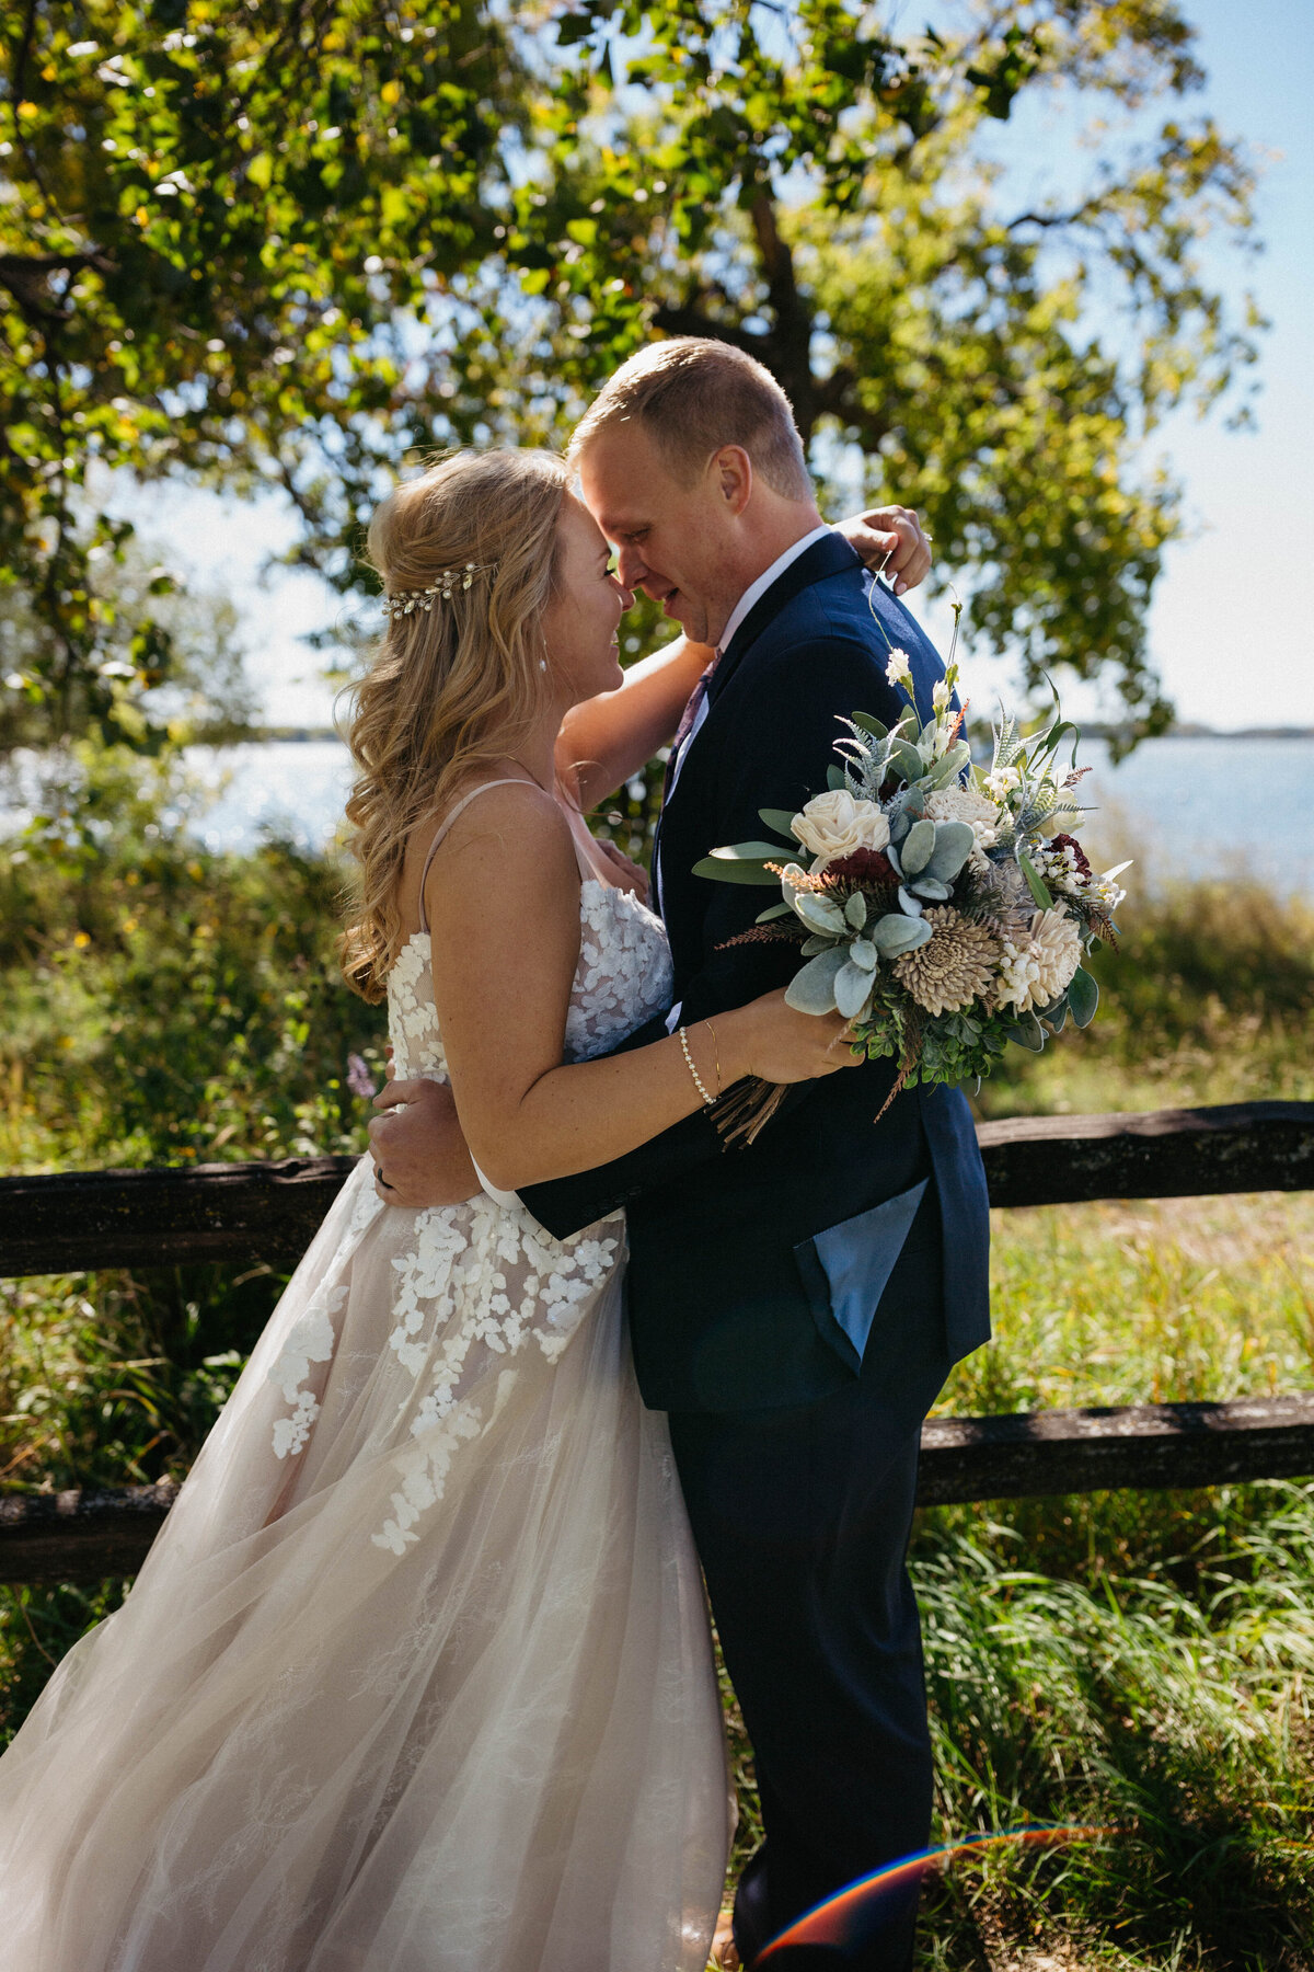
<svg viewBox="0 0 1314 1972">
<path fill-rule="evenodd" d="M 154 830 L 154 832 L 150 832 Z M 339 878 L 280 846 L 197 854 L 140 814 L 112 852 L 0 854 L 0 1156 L 12 1169 L 341 1150 Z M 1131 905 L 1085 1035 L 1015 1055 L 983 1114 L 1314 1096 L 1314 917 L 1245 885 Z M 278 1296 L 266 1270 L 0 1284 L 0 1481 L 181 1473 Z M 944 1412 L 1314 1386 L 1314 1199 L 995 1215 L 995 1327 Z M 1314 1485 L 924 1513 L 936 1838 L 1113 1834 L 961 1860 L 926 1887 L 930 1972 L 1314 1966 Z M 8 1591 L 0 1724 L 120 1597 Z M 756 1806 L 727 1692 L 741 1844 Z"/>
</svg>

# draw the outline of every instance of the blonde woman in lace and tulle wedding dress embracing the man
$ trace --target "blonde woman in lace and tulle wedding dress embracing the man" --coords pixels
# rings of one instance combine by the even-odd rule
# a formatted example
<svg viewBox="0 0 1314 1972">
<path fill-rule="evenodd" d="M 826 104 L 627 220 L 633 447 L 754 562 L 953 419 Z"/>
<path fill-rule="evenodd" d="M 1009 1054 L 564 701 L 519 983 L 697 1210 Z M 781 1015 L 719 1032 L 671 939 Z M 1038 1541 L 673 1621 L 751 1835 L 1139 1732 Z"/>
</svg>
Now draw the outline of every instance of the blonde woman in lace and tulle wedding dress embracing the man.
<svg viewBox="0 0 1314 1972">
<path fill-rule="evenodd" d="M 561 461 L 449 458 L 370 554 L 343 962 L 398 1073 L 451 1077 L 479 1175 L 384 1209 L 361 1162 L 128 1601 L 0 1759 L 10 1972 L 707 1958 L 721 1718 L 624 1219 L 559 1242 L 510 1187 L 851 1057 L 770 994 L 593 1059 L 666 1010 L 670 962 L 581 807 L 668 738 L 697 653 L 621 694 L 605 757 L 558 761 L 569 708 L 621 684 L 630 603 Z"/>
</svg>

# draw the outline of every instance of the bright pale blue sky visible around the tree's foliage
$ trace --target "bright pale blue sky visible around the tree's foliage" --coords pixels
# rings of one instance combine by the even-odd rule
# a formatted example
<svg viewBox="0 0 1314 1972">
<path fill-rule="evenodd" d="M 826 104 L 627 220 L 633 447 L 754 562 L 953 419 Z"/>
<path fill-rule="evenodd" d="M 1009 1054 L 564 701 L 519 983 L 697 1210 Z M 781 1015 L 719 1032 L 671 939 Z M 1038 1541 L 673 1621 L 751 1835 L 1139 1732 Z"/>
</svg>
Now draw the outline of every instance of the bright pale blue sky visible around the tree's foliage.
<svg viewBox="0 0 1314 1972">
<path fill-rule="evenodd" d="M 908 6 L 904 26 L 936 12 L 926 0 Z M 1217 270 L 1229 292 L 1257 290 L 1273 329 L 1253 432 L 1229 432 L 1217 414 L 1180 414 L 1147 448 L 1184 481 L 1190 523 L 1190 538 L 1166 554 L 1150 651 L 1184 720 L 1314 726 L 1314 0 L 1186 0 L 1184 12 L 1210 75 L 1192 108 L 1210 108 L 1227 134 L 1269 152 L 1257 201 L 1267 250 L 1249 264 L 1219 256 Z M 1076 128 L 1072 112 L 1052 110 L 1001 126 L 1018 183 L 1044 191 L 1054 162 L 1072 158 Z M 268 718 L 325 724 L 321 659 L 299 637 L 343 605 L 307 574 L 260 582 L 264 556 L 294 534 L 280 503 L 156 485 L 126 505 L 197 582 L 232 594 Z M 940 629 L 942 611 L 932 605 L 928 621 Z M 965 670 L 971 684 L 971 659 Z M 975 688 L 1007 688 L 1007 667 L 979 670 Z M 1093 700 L 1070 700 L 1070 710 L 1089 714 Z"/>
</svg>

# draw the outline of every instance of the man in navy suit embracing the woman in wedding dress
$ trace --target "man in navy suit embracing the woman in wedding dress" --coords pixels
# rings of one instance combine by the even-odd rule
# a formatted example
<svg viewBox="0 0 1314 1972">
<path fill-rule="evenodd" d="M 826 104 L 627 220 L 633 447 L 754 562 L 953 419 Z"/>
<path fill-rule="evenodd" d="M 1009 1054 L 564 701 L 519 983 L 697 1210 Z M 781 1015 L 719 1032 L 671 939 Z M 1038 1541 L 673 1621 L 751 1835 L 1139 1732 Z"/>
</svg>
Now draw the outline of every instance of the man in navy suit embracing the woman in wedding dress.
<svg viewBox="0 0 1314 1972">
<path fill-rule="evenodd" d="M 798 954 L 733 943 L 766 893 L 693 864 L 760 838 L 758 809 L 792 814 L 823 791 L 839 718 L 898 718 L 890 645 L 908 653 L 924 720 L 944 667 L 821 525 L 788 400 L 741 351 L 640 351 L 583 418 L 571 459 L 626 588 L 719 653 L 672 751 L 654 844 L 676 978 L 666 1025 L 715 1023 L 786 982 Z M 735 1897 L 745 1964 L 812 1905 L 928 1844 L 904 1556 L 922 1420 L 952 1363 L 989 1335 L 989 1215 L 963 1096 L 904 1089 L 875 1122 L 892 1081 L 887 1061 L 798 1085 L 749 1148 L 701 1110 L 611 1165 L 522 1193 L 558 1236 L 628 1215 L 634 1367 L 648 1406 L 670 1412 L 762 1800 L 766 1840 Z M 453 1124 L 443 1092 L 420 1096 L 376 1148 L 388 1162 L 424 1154 L 437 1175 Z M 914 1919 L 916 1889 L 887 1895 L 849 1962 L 906 1972 Z"/>
</svg>

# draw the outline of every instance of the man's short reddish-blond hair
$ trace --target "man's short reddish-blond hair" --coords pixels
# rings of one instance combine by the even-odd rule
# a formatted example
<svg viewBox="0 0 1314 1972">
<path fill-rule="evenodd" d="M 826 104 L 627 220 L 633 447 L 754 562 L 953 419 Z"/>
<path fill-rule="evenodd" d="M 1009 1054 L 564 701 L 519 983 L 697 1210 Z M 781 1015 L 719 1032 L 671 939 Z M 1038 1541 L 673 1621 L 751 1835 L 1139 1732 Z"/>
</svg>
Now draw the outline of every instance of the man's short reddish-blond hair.
<svg viewBox="0 0 1314 1972">
<path fill-rule="evenodd" d="M 688 485 L 721 446 L 743 446 L 772 493 L 814 497 L 788 396 L 768 369 L 731 343 L 672 335 L 632 355 L 575 426 L 571 465 L 601 430 L 626 420 L 648 432 Z"/>
</svg>

